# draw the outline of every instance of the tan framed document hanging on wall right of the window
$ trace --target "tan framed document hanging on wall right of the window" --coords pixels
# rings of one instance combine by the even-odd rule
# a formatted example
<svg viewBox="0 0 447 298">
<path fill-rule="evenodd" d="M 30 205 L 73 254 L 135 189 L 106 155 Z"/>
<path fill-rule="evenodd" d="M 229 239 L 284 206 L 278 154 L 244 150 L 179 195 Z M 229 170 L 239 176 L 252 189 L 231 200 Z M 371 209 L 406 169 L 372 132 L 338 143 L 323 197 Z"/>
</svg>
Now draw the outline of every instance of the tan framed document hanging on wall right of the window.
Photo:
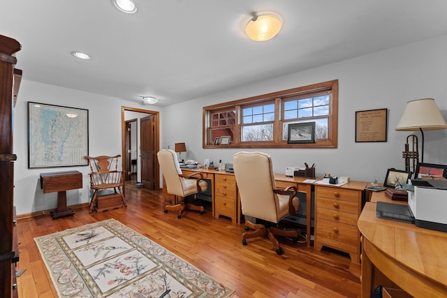
<svg viewBox="0 0 447 298">
<path fill-rule="evenodd" d="M 388 109 L 356 112 L 356 142 L 386 142 Z"/>
</svg>

